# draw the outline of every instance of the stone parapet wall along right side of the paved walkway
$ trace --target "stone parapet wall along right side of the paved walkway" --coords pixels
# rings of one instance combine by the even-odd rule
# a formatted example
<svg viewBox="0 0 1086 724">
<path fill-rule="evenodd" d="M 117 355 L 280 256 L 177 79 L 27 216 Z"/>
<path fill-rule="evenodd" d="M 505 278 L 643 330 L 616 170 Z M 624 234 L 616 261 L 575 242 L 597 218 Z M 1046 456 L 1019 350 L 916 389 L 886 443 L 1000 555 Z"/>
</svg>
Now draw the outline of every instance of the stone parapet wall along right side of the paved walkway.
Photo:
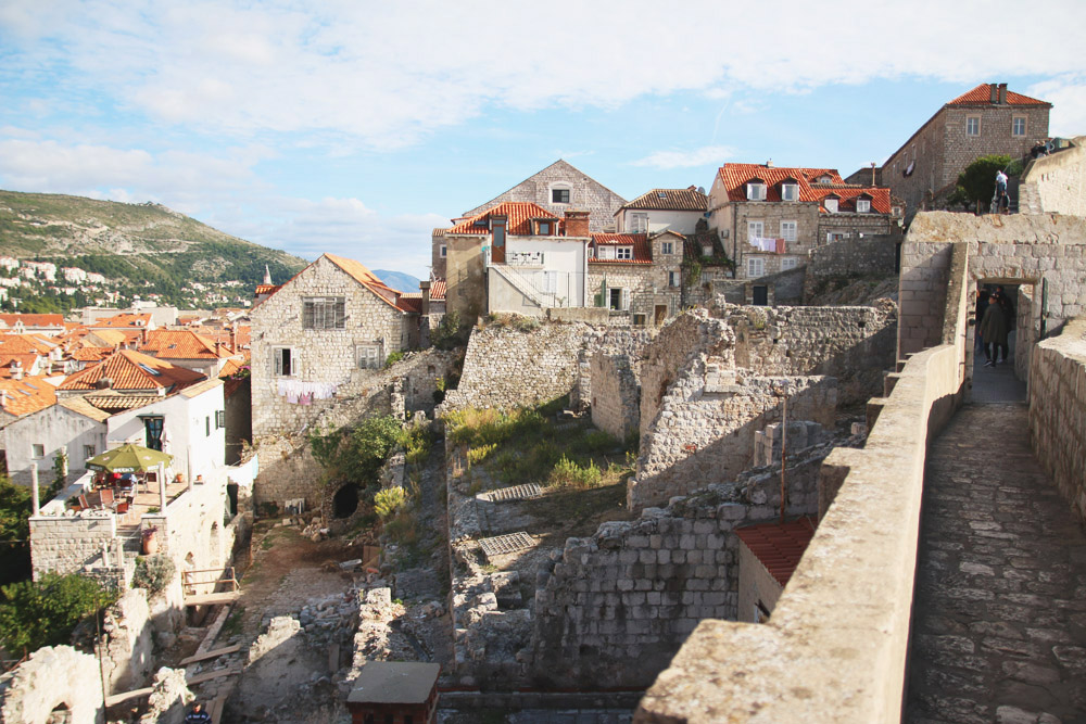
<svg viewBox="0 0 1086 724">
<path fill-rule="evenodd" d="M 1086 319 L 1034 348 L 1030 440 L 1045 471 L 1086 521 Z"/>
</svg>

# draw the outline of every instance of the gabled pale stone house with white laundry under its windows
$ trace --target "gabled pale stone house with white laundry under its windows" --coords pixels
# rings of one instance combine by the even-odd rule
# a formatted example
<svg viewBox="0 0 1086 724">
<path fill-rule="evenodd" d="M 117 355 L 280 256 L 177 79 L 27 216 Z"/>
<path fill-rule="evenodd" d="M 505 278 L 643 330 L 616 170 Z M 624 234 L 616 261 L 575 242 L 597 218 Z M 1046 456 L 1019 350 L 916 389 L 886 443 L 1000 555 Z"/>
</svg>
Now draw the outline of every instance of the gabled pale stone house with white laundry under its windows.
<svg viewBox="0 0 1086 724">
<path fill-rule="evenodd" d="M 296 432 L 314 401 L 379 370 L 417 342 L 401 293 L 352 259 L 324 254 L 252 312 L 253 435 Z"/>
</svg>

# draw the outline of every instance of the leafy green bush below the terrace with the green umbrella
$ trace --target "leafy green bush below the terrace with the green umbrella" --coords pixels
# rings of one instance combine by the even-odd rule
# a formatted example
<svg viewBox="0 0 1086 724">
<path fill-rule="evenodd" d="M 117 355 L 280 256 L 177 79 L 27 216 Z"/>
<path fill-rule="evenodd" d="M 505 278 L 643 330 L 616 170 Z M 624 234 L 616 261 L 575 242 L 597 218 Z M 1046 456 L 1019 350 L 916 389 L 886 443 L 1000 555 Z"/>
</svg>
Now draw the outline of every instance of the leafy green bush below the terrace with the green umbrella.
<svg viewBox="0 0 1086 724">
<path fill-rule="evenodd" d="M 0 586 L 0 642 L 9 651 L 66 644 L 77 623 L 116 599 L 76 573 Z"/>
</svg>

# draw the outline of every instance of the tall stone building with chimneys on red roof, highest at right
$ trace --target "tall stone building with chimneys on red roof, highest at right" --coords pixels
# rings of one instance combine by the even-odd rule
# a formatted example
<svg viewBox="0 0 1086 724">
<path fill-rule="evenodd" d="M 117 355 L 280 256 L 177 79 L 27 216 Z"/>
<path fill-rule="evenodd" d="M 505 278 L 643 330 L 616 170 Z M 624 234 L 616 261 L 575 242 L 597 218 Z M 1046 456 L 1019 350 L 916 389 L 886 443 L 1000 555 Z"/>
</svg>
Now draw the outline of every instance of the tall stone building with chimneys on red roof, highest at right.
<svg viewBox="0 0 1086 724">
<path fill-rule="evenodd" d="M 958 174 L 980 156 L 1019 158 L 1048 138 L 1052 104 L 1015 93 L 1007 84 L 982 82 L 935 112 L 882 165 L 881 182 L 906 204 L 906 219 L 935 207 L 954 190 Z M 851 177 L 862 177 L 860 169 Z"/>
</svg>

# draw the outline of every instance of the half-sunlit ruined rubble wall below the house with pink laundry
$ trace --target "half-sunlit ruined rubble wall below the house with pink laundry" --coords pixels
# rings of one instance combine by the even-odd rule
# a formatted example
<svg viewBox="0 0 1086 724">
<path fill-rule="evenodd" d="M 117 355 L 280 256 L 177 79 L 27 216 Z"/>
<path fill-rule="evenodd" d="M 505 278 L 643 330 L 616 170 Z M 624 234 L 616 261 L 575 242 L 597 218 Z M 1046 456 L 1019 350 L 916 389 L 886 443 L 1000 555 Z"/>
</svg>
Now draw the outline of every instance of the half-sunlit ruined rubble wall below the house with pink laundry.
<svg viewBox="0 0 1086 724">
<path fill-rule="evenodd" d="M 897 310 L 881 307 L 725 307 L 735 366 L 755 374 L 830 374 L 837 404 L 879 395 L 894 367 Z"/>
</svg>

